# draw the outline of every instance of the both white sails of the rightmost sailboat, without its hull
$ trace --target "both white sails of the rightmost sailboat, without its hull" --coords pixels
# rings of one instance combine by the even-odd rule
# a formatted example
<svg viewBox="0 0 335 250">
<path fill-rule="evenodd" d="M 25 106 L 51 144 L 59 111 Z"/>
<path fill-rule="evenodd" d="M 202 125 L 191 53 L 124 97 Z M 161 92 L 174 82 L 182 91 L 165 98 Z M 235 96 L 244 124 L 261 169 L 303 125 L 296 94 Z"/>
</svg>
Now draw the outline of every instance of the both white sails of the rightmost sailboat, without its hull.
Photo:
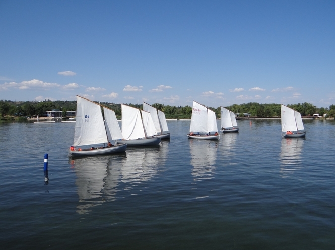
<svg viewBox="0 0 335 250">
<path fill-rule="evenodd" d="M 301 115 L 299 112 L 282 105 L 281 108 L 282 132 L 303 130 Z"/>
</svg>

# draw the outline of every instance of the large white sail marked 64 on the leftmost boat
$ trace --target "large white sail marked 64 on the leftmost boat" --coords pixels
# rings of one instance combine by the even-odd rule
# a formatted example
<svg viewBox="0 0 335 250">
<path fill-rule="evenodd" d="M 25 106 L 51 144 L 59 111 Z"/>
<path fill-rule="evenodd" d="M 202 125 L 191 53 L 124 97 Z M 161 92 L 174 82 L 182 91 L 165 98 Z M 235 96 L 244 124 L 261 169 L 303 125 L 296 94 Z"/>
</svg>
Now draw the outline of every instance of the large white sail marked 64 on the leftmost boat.
<svg viewBox="0 0 335 250">
<path fill-rule="evenodd" d="M 100 105 L 77 96 L 74 146 L 107 143 Z"/>
</svg>

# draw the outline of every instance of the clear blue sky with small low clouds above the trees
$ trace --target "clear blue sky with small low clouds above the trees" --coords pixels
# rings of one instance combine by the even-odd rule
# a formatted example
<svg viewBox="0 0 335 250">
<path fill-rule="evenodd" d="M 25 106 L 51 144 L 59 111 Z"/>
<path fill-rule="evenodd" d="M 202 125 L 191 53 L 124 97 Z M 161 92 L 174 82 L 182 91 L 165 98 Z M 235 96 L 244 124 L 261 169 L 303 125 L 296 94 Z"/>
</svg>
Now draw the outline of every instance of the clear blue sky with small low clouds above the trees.
<svg viewBox="0 0 335 250">
<path fill-rule="evenodd" d="M 335 1 L 0 0 L 0 99 L 335 104 Z"/>
</svg>

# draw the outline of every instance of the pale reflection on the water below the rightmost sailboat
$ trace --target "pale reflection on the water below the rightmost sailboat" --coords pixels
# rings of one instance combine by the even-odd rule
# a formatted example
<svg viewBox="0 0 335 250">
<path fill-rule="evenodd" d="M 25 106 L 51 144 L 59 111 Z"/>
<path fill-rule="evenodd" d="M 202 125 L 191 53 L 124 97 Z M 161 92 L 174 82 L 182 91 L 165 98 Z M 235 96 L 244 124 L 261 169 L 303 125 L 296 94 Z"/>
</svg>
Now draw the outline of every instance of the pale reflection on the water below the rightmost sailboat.
<svg viewBox="0 0 335 250">
<path fill-rule="evenodd" d="M 302 151 L 305 139 L 283 138 L 279 160 L 281 162 L 280 172 L 284 175 L 292 174 L 301 168 Z M 285 176 L 283 176 L 285 177 Z"/>
</svg>

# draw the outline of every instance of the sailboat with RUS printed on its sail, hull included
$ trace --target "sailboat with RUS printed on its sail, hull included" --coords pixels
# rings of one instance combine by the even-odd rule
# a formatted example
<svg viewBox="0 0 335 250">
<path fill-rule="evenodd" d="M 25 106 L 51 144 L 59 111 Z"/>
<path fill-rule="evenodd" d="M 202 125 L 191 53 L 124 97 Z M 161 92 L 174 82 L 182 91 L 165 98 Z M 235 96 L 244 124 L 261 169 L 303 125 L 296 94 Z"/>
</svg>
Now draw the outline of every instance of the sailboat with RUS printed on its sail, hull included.
<svg viewBox="0 0 335 250">
<path fill-rule="evenodd" d="M 215 112 L 193 101 L 189 132 L 187 134 L 189 139 L 219 140 Z"/>
</svg>

